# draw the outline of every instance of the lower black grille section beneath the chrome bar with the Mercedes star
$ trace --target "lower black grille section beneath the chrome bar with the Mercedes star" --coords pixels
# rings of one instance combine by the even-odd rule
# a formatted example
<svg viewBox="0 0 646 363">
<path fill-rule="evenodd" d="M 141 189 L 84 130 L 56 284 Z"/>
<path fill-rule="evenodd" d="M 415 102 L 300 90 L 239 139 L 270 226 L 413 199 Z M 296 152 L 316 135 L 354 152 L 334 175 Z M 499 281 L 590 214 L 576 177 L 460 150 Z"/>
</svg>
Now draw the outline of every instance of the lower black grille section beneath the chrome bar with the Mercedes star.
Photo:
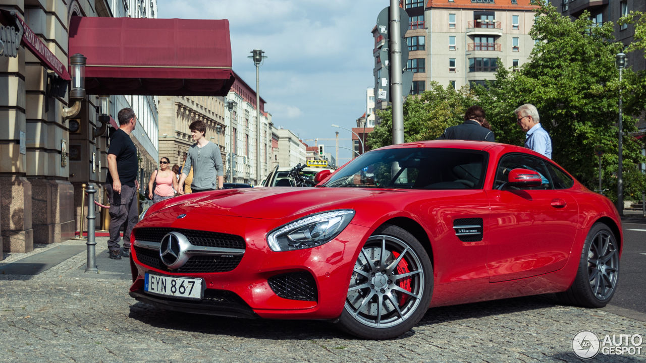
<svg viewBox="0 0 646 363">
<path fill-rule="evenodd" d="M 242 256 L 192 256 L 179 269 L 171 270 L 161 262 L 159 251 L 134 246 L 134 253 L 141 264 L 172 273 L 218 273 L 232 271 L 240 264 Z"/>
</svg>

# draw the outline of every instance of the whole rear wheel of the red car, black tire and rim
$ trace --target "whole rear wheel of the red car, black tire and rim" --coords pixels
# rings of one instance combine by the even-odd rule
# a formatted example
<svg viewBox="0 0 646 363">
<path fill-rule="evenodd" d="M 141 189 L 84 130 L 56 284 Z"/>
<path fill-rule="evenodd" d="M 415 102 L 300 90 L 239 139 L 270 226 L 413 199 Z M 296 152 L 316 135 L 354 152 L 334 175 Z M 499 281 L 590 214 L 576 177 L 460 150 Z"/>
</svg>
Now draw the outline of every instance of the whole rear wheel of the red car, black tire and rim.
<svg viewBox="0 0 646 363">
<path fill-rule="evenodd" d="M 599 255 L 601 258 L 598 258 Z M 619 245 L 614 233 L 604 223 L 595 223 L 583 244 L 579 269 L 572 286 L 556 295 L 563 304 L 604 307 L 614 296 L 618 276 Z"/>
</svg>

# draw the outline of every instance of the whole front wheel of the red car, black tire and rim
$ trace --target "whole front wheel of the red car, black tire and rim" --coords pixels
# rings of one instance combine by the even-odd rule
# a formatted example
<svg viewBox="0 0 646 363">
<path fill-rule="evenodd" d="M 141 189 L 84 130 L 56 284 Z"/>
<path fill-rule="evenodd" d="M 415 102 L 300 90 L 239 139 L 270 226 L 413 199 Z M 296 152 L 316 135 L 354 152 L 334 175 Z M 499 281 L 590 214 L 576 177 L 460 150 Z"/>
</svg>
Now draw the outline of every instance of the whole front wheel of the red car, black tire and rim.
<svg viewBox="0 0 646 363">
<path fill-rule="evenodd" d="M 342 331 L 359 338 L 390 339 L 412 329 L 426 313 L 433 294 L 433 265 L 426 249 L 406 230 L 379 227 L 362 246 L 354 271 L 337 324 Z"/>
</svg>

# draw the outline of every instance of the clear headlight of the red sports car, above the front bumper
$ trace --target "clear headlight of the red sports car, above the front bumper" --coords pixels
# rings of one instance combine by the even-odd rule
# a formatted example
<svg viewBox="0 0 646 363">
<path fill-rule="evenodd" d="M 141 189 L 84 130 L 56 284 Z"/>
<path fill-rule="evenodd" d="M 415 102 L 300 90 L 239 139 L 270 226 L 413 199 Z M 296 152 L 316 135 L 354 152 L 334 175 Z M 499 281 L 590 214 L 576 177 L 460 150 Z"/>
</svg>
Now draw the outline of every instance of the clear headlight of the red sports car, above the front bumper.
<svg viewBox="0 0 646 363">
<path fill-rule="evenodd" d="M 338 236 L 354 216 L 352 209 L 312 214 L 269 232 L 267 243 L 272 251 L 317 247 Z"/>
</svg>

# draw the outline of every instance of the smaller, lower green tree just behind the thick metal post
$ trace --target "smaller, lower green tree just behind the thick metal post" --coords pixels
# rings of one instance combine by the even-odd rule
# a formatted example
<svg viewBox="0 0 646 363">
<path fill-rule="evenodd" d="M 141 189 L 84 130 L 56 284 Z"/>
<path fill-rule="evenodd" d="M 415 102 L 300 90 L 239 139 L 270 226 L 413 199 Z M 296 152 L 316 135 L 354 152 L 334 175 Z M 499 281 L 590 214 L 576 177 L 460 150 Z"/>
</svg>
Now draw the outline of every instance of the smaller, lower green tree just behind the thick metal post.
<svg viewBox="0 0 646 363">
<path fill-rule="evenodd" d="M 432 82 L 419 96 L 408 96 L 404 103 L 404 141 L 435 140 L 450 126 L 462 123 L 464 111 L 473 105 L 472 94 L 465 88 L 443 88 Z M 392 143 L 391 108 L 377 110 L 379 125 L 368 135 L 368 146 L 377 149 Z"/>
</svg>

